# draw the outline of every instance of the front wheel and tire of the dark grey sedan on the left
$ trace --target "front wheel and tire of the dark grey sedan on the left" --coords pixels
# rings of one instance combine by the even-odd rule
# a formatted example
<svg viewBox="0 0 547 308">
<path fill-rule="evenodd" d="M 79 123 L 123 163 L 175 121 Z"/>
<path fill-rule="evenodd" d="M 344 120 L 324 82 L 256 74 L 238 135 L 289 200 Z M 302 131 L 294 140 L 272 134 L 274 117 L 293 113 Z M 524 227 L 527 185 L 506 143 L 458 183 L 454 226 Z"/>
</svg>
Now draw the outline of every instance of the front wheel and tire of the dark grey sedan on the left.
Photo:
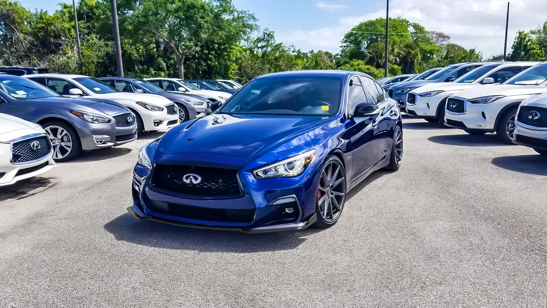
<svg viewBox="0 0 547 308">
<path fill-rule="evenodd" d="M 82 153 L 82 142 L 72 126 L 59 121 L 50 121 L 43 124 L 42 127 L 53 145 L 53 159 L 55 161 L 70 161 Z"/>
</svg>

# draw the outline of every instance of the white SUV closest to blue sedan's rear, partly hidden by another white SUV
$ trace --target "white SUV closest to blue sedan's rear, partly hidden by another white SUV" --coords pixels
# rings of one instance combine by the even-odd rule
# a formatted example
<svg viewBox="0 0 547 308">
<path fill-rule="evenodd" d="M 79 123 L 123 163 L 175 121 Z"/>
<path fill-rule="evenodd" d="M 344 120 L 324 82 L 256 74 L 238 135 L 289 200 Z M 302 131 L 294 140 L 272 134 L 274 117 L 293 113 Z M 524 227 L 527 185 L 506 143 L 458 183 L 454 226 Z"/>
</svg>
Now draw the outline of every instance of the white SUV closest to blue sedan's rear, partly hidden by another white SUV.
<svg viewBox="0 0 547 308">
<path fill-rule="evenodd" d="M 478 85 L 500 84 L 539 62 L 499 62 L 475 68 L 451 83 L 432 83 L 410 91 L 406 113 L 428 122 L 444 121 L 449 96 Z"/>
</svg>

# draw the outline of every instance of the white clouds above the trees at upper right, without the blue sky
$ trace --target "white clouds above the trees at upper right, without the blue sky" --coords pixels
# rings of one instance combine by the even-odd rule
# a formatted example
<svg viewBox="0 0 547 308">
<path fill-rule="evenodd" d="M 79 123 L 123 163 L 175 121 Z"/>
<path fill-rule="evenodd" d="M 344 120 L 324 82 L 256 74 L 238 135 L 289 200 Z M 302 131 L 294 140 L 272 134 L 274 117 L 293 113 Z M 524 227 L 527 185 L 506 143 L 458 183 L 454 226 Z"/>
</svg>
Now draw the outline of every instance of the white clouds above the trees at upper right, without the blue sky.
<svg viewBox="0 0 547 308">
<path fill-rule="evenodd" d="M 319 3 L 316 5 L 318 6 Z M 528 0 L 526 3 L 512 1 L 510 5 L 508 54 L 517 31 L 537 28 L 547 18 L 544 14 L 537 14 L 544 11 L 547 6 L 543 1 Z M 389 7 L 389 15 L 392 18 L 400 16 L 421 24 L 427 30 L 445 32 L 451 36 L 452 43 L 465 48 L 477 48 L 482 51 L 485 57 L 503 53 L 507 2 L 468 0 L 460 1 L 456 5 L 392 0 Z M 361 21 L 382 16 L 386 16 L 385 9 L 360 16 L 347 15 L 341 17 L 337 20 L 337 24 L 331 27 L 322 27 L 311 31 L 281 31 L 276 34 L 283 42 L 294 44 L 302 50 L 322 49 L 337 53 L 340 50 L 340 40 L 353 26 Z"/>
</svg>

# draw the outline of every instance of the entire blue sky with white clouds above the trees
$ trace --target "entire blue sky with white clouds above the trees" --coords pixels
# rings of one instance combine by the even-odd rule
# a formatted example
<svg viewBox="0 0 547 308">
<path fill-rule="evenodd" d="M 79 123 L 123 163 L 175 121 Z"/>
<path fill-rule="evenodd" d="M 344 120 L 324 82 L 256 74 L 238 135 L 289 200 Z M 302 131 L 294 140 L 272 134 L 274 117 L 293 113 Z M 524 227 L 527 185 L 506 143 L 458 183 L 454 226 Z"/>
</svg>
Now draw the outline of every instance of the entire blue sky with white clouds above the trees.
<svg viewBox="0 0 547 308">
<path fill-rule="evenodd" d="M 275 31 L 278 42 L 302 50 L 337 53 L 344 34 L 360 21 L 386 15 L 385 1 L 371 0 L 232 0 L 249 10 L 261 27 Z M 56 0 L 20 0 L 26 8 L 59 8 Z M 389 0 L 389 14 L 418 22 L 427 30 L 449 34 L 452 43 L 477 48 L 485 56 L 503 53 L 507 1 Z M 512 0 L 508 53 L 518 30 L 538 27 L 547 15 L 540 0 Z"/>
</svg>

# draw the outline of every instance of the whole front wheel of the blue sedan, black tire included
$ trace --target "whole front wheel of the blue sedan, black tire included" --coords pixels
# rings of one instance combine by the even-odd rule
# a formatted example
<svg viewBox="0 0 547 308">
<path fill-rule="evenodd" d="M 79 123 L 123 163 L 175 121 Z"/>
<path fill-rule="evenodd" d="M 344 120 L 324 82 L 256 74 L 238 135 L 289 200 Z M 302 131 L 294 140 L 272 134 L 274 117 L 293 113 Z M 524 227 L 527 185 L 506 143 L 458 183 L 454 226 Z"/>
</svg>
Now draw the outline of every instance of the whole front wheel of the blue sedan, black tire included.
<svg viewBox="0 0 547 308">
<path fill-rule="evenodd" d="M 335 155 L 330 155 L 321 168 L 315 206 L 317 221 L 313 226 L 329 228 L 338 221 L 346 202 L 346 187 L 344 164 Z"/>
</svg>

